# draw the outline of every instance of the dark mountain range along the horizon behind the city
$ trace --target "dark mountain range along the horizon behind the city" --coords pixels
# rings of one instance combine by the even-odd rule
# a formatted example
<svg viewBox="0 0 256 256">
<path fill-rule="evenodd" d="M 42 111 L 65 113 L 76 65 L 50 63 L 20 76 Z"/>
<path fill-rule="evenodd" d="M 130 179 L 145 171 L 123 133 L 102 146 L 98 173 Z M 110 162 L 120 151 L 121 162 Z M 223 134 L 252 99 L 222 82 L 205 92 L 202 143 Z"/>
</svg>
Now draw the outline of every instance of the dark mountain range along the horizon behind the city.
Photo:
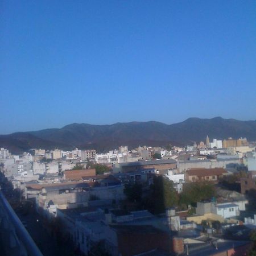
<svg viewBox="0 0 256 256">
<path fill-rule="evenodd" d="M 239 121 L 215 117 L 212 119 L 188 118 L 183 122 L 167 125 L 161 122 L 129 122 L 113 125 L 89 125 L 72 123 L 60 129 L 45 129 L 0 135 L 0 147 L 20 154 L 31 148 L 61 148 L 71 150 L 94 148 L 107 151 L 121 145 L 134 148 L 139 145 L 183 146 L 193 142 L 246 137 L 256 141 L 256 120 Z"/>
</svg>

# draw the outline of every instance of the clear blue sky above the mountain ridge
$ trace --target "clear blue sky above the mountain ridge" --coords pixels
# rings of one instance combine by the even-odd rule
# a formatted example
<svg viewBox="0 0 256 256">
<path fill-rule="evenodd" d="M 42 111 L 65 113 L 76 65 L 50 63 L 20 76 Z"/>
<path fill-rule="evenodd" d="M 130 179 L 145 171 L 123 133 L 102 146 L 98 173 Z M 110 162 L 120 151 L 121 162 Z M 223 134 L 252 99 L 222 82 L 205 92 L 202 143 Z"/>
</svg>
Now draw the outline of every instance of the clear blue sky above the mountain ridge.
<svg viewBox="0 0 256 256">
<path fill-rule="evenodd" d="M 256 1 L 0 4 L 0 133 L 255 119 Z"/>
</svg>

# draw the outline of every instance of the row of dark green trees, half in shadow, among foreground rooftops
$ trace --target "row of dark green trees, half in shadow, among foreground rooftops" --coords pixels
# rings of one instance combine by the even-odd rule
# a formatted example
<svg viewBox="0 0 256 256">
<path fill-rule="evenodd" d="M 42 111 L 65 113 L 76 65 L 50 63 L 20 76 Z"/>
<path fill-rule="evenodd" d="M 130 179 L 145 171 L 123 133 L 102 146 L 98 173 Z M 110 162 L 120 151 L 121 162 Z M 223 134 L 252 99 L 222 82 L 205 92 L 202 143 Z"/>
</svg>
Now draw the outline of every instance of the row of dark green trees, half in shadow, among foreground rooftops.
<svg viewBox="0 0 256 256">
<path fill-rule="evenodd" d="M 191 183 L 184 185 L 184 191 L 178 194 L 172 181 L 163 176 L 155 176 L 149 191 L 142 196 L 142 184 L 126 184 L 125 195 L 130 202 L 136 202 L 142 208 L 158 214 L 166 208 L 179 206 L 187 209 L 187 205 L 195 205 L 197 201 L 212 199 L 215 195 L 214 185 L 210 183 Z"/>
</svg>

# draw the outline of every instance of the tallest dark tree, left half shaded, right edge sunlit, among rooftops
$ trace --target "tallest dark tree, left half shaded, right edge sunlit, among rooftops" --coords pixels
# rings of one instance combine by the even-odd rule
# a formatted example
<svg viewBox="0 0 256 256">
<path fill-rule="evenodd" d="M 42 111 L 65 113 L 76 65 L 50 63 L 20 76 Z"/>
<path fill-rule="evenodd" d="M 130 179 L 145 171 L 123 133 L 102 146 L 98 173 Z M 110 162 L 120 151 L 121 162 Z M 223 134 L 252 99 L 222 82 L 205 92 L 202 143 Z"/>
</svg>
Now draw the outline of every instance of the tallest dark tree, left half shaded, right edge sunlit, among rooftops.
<svg viewBox="0 0 256 256">
<path fill-rule="evenodd" d="M 150 185 L 150 195 L 145 200 L 145 206 L 152 213 L 163 213 L 164 210 L 177 205 L 179 197 L 172 181 L 163 176 L 155 176 Z"/>
</svg>

